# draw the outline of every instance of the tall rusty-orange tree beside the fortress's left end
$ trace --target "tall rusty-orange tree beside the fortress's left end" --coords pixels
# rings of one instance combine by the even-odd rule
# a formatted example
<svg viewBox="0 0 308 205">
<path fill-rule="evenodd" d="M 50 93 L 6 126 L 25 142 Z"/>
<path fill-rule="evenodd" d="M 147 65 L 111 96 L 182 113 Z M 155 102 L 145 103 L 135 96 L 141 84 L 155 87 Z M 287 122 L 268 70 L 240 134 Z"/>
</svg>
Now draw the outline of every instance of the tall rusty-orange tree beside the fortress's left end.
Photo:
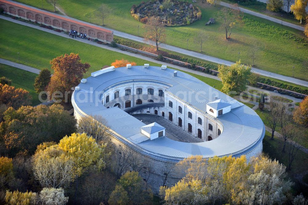
<svg viewBox="0 0 308 205">
<path fill-rule="evenodd" d="M 79 54 L 71 53 L 58 56 L 50 61 L 54 75 L 47 86 L 47 91 L 52 93 L 58 91 L 65 96 L 67 92 L 67 102 L 71 101 L 71 88 L 77 86 L 88 71 L 90 64 L 82 63 Z M 52 96 L 51 96 L 52 97 Z M 58 100 L 58 99 L 56 99 Z M 62 100 L 61 103 L 65 101 Z"/>
</svg>

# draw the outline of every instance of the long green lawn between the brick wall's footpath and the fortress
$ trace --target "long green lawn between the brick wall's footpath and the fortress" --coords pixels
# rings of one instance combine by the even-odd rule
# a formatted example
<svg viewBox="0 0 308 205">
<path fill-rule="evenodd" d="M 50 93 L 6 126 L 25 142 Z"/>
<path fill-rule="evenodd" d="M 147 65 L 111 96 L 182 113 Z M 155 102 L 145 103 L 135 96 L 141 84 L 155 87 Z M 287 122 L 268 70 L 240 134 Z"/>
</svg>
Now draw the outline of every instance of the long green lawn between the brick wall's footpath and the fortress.
<svg viewBox="0 0 308 205">
<path fill-rule="evenodd" d="M 6 20 L 0 19 L 3 31 L 0 34 L 0 58 L 18 62 L 18 52 L 20 52 L 20 63 L 34 68 L 50 68 L 49 61 L 56 56 L 65 53 L 79 53 L 83 62 L 88 62 L 91 67 L 85 77 L 91 72 L 101 69 L 104 65 L 110 65 L 115 59 L 128 59 L 137 65 L 148 63 L 150 65 L 161 66 L 143 59 L 124 55 L 115 51 L 109 51 L 100 47 L 77 42 L 73 39 L 66 39 L 34 28 L 22 26 Z M 221 81 L 199 76 L 186 72 L 205 83 L 220 89 Z M 13 80 L 13 79 L 12 79 Z M 33 83 L 32 83 L 33 84 Z"/>
</svg>

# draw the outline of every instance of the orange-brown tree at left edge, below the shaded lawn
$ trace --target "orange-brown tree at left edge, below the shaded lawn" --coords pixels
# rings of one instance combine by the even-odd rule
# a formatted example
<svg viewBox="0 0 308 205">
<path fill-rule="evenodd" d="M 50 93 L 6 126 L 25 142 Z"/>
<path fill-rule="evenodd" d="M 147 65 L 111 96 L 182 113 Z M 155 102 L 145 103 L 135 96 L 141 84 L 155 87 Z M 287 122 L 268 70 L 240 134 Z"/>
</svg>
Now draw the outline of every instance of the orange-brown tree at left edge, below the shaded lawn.
<svg viewBox="0 0 308 205">
<path fill-rule="evenodd" d="M 22 105 L 31 105 L 31 100 L 32 97 L 28 91 L 0 83 L 0 104 L 18 109 Z"/>
</svg>

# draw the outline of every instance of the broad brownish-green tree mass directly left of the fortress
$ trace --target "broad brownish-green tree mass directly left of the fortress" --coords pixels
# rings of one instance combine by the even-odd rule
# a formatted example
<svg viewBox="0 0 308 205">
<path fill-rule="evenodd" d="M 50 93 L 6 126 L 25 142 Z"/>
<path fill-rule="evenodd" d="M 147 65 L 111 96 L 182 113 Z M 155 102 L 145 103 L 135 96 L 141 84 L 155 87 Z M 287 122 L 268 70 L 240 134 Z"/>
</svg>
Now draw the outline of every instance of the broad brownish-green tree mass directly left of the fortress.
<svg viewBox="0 0 308 205">
<path fill-rule="evenodd" d="M 59 141 L 76 131 L 76 119 L 61 105 L 22 106 L 8 108 L 0 124 L 0 137 L 12 154 L 27 150 L 34 153 L 36 146 L 45 141 Z"/>
</svg>

